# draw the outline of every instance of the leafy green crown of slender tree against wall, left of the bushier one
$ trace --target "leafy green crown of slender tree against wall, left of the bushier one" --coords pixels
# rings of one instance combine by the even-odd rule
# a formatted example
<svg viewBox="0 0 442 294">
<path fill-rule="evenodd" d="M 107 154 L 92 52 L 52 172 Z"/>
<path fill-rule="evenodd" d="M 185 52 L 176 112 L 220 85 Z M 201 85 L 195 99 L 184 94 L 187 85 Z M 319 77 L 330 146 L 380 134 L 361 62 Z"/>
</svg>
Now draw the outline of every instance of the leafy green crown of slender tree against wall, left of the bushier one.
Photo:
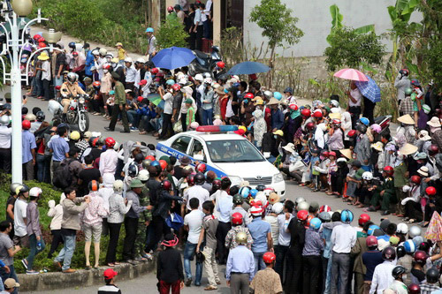
<svg viewBox="0 0 442 294">
<path fill-rule="evenodd" d="M 271 48 L 282 46 L 284 41 L 294 45 L 304 33 L 296 27 L 298 18 L 293 17 L 292 12 L 280 0 L 261 0 L 250 12 L 249 19 L 263 29 Z"/>
</svg>

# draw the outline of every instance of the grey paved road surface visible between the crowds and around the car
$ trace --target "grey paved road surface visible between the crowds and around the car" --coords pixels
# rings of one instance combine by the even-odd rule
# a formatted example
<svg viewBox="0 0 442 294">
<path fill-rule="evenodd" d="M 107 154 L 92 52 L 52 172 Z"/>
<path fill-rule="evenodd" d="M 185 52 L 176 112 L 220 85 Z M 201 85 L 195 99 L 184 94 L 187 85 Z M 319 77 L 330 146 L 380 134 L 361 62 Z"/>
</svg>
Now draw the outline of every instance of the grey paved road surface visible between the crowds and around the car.
<svg viewBox="0 0 442 294">
<path fill-rule="evenodd" d="M 46 119 L 50 120 L 50 113 L 47 111 L 47 102 L 42 102 L 34 98 L 28 98 L 27 107 L 31 111 L 33 107 L 40 107 L 46 113 Z M 149 135 L 139 135 L 138 132 L 131 133 L 120 133 L 120 132 L 104 132 L 103 127 L 109 124 L 108 120 L 103 119 L 103 117 L 95 117 L 90 116 L 91 119 L 91 132 L 102 132 L 103 136 L 112 136 L 117 139 L 118 142 L 124 142 L 128 139 L 136 140 L 136 141 L 145 141 L 148 144 L 156 144 L 156 139 Z M 116 130 L 122 130 L 122 126 L 117 124 Z M 327 196 L 324 192 L 310 192 L 308 188 L 300 187 L 299 185 L 293 185 L 291 182 L 286 183 L 286 198 L 290 200 L 295 200 L 297 197 L 302 196 L 308 201 L 317 201 L 319 205 L 329 205 L 331 209 L 334 210 L 342 210 L 345 208 L 351 208 L 354 211 L 354 224 L 357 223 L 357 219 L 359 215 L 362 214 L 362 209 L 356 209 L 354 207 L 348 206 L 346 203 L 343 203 L 342 200 L 336 199 L 332 196 Z M 380 222 L 381 216 L 378 213 L 369 213 L 373 222 Z M 392 222 L 399 222 L 399 219 L 395 216 L 390 215 L 389 218 Z M 193 267 L 194 268 L 194 267 Z M 225 268 L 220 268 L 222 272 L 225 271 Z M 207 281 L 206 275 L 203 274 L 202 285 L 204 285 Z M 132 281 L 124 281 L 118 283 L 121 290 L 124 293 L 138 293 L 138 292 L 156 292 L 156 277 L 154 274 L 144 275 L 141 278 L 134 279 Z M 65 294 L 69 293 L 96 293 L 95 286 L 88 288 L 79 288 L 72 290 L 63 290 Z M 191 287 L 183 290 L 183 293 L 200 293 L 203 292 L 203 288 Z M 229 290 L 224 285 L 218 290 L 218 293 L 228 293 Z M 43 292 L 28 292 L 28 293 L 43 293 Z M 60 290 L 54 291 L 45 291 L 44 293 L 60 293 Z"/>
</svg>

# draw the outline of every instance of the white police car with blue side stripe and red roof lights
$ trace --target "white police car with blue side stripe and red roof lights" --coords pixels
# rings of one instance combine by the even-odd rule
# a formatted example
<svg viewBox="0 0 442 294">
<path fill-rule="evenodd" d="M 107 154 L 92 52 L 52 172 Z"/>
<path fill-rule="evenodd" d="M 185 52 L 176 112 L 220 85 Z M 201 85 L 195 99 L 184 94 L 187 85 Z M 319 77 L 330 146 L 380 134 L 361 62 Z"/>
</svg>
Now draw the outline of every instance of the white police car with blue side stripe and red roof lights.
<svg viewBox="0 0 442 294">
<path fill-rule="evenodd" d="M 206 126 L 206 130 L 209 129 L 217 128 Z M 248 181 L 252 187 L 263 184 L 281 196 L 286 193 L 286 183 L 279 170 L 267 162 L 248 139 L 236 133 L 180 132 L 156 145 L 156 158 L 163 155 L 178 159 L 187 155 L 193 165 L 205 162 L 207 170 L 215 171 L 217 177 L 229 177 L 232 185 Z"/>
</svg>

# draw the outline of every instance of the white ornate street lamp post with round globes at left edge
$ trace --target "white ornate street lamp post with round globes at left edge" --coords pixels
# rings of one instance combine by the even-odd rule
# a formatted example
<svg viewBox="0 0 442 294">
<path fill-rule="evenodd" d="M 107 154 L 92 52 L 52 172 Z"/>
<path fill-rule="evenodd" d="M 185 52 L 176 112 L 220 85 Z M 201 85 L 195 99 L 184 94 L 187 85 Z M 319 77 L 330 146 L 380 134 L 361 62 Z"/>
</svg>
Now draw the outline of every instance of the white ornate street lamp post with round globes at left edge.
<svg viewBox="0 0 442 294">
<path fill-rule="evenodd" d="M 20 71 L 20 56 L 23 47 L 28 44 L 28 40 L 25 39 L 25 32 L 27 27 L 34 22 L 41 23 L 43 19 L 41 17 L 41 11 L 38 10 L 38 16 L 36 19 L 29 21 L 25 20 L 25 17 L 32 11 L 32 0 L 13 0 L 10 4 L 8 0 L 4 0 L 2 9 L 2 15 L 4 19 L 9 23 L 11 36 L 4 24 L 0 24 L 0 27 L 4 29 L 6 35 L 6 43 L 3 44 L 2 52 L 0 53 L 0 60 L 3 64 L 4 70 L 4 83 L 9 81 L 11 83 L 11 121 L 12 121 L 12 134 L 11 134 L 11 150 L 12 150 L 12 183 L 22 183 L 22 139 L 21 139 L 21 82 L 27 81 L 27 72 L 21 73 Z M 19 27 L 23 26 L 23 32 L 19 34 Z M 55 33 L 53 30 L 48 34 L 51 40 L 49 42 L 57 42 L 61 38 L 61 33 Z M 52 44 L 50 44 L 52 49 Z M 11 54 L 12 53 L 12 54 Z M 6 66 L 4 64 L 3 57 L 9 57 L 11 63 L 11 71 L 6 72 Z M 28 58 L 27 63 L 31 61 Z"/>
</svg>

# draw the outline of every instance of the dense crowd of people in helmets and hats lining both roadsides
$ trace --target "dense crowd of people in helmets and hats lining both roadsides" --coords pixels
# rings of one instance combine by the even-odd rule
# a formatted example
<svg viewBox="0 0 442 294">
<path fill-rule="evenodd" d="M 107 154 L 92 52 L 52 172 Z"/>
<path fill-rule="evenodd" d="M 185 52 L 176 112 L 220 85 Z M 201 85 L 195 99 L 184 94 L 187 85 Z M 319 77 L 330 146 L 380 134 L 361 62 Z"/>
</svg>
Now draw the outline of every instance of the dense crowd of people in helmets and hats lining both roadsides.
<svg viewBox="0 0 442 294">
<path fill-rule="evenodd" d="M 147 34 L 151 39 L 153 29 Z M 32 39 L 46 46 L 42 36 Z M 155 41 L 149 44 L 152 57 Z M 0 222 L 4 290 L 18 287 L 11 282 L 18 282 L 13 257 L 23 246 L 30 248 L 21 260 L 28 275 L 39 274 L 35 258 L 53 259 L 64 273 L 75 272 L 71 260 L 79 230 L 85 236 L 87 269 L 114 268 L 120 261 L 136 264 L 159 251 L 160 293 L 200 286 L 203 265 L 209 282 L 205 290 L 217 290 L 222 281 L 218 264 L 226 265 L 232 293 L 249 288 L 255 293 L 438 290 L 442 245 L 423 239 L 420 229 L 442 211 L 441 104 L 434 85 L 424 89 L 408 79 L 407 70 L 399 72 L 400 125 L 390 130 L 388 121 L 375 119 L 376 103 L 353 81 L 347 97 L 332 95 L 326 102 L 301 105 L 293 88 L 271 92 L 255 75 L 245 80 L 226 74 L 223 62 L 214 72 L 191 76 L 187 67 L 159 69 L 144 58 L 133 61 L 123 44 L 116 47 L 114 57 L 106 49 L 73 42 L 64 49 L 58 43 L 52 54 L 43 50 L 33 61 L 33 86 L 22 108 L 23 178 L 55 185 L 63 193 L 57 202 L 39 204 L 42 189 L 11 185 L 6 220 Z M 25 49 L 24 64 L 30 52 Z M 293 195 L 281 199 L 271 186 L 232 185 L 228 177 L 207 171 L 204 162 L 192 165 L 187 156 L 156 158 L 156 147 L 143 137 L 118 144 L 100 132 L 72 131 L 59 118 L 46 121 L 40 108 L 27 109 L 27 99 L 36 97 L 60 102 L 66 113 L 72 96 L 63 89 L 72 96 L 88 94 L 89 114 L 109 119 L 110 132 L 118 121 L 122 132 L 152 133 L 157 139 L 199 125 L 238 125 L 235 133 L 249 139 L 287 181 L 328 195 L 317 194 L 318 201 L 335 197 L 354 209 L 396 215 L 401 221 L 375 224 L 362 214 L 352 226 L 349 209 L 332 213 L 317 201 L 290 200 Z M 0 170 L 5 173 L 11 172 L 10 112 L 6 99 L 0 113 Z M 51 240 L 42 237 L 39 205 L 50 208 Z M 407 223 L 415 225 L 408 230 Z M 109 236 L 105 260 L 99 258 L 102 235 Z M 42 257 L 45 242 L 50 251 Z M 116 275 L 113 270 L 105 274 L 105 289 L 115 291 Z"/>
</svg>

